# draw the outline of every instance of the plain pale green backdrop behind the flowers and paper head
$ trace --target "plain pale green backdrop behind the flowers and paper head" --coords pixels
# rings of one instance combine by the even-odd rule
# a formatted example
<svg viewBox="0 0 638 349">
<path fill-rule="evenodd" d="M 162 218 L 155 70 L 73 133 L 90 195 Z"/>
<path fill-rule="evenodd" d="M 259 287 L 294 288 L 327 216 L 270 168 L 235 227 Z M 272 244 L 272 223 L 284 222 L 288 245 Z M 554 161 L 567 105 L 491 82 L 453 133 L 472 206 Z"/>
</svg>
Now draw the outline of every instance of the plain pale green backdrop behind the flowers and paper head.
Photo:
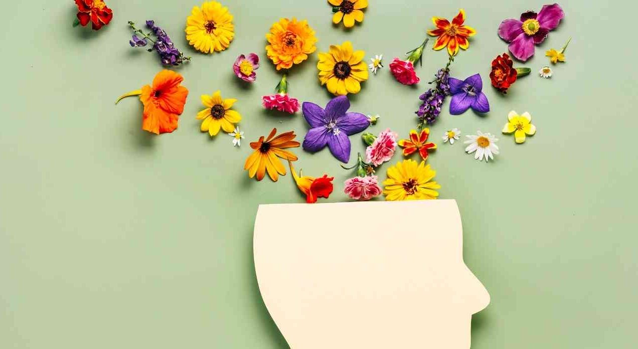
<svg viewBox="0 0 638 349">
<path fill-rule="evenodd" d="M 300 140 L 307 126 L 300 114 L 260 107 L 278 81 L 265 60 L 264 34 L 279 17 L 308 19 L 319 51 L 352 40 L 367 58 L 383 54 L 387 66 L 420 43 L 431 16 L 451 18 L 459 7 L 478 34 L 452 75 L 481 73 L 492 110 L 451 116 L 446 103 L 433 139 L 440 143 L 452 127 L 500 135 L 512 109 L 529 111 L 538 128 L 524 145 L 500 135 L 493 163 L 475 161 L 463 144 L 439 144 L 429 160 L 441 198 L 461 209 L 466 263 L 492 297 L 474 317 L 473 348 L 635 347 L 635 2 L 563 1 L 567 19 L 524 64 L 533 74 L 507 96 L 489 86 L 490 62 L 507 50 L 498 24 L 539 10 L 541 1 L 370 2 L 364 23 L 348 31 L 332 26 L 326 1 L 226 0 L 235 41 L 204 56 L 183 34 L 198 2 L 109 0 L 114 20 L 94 33 L 71 27 L 72 1 L 5 1 L 0 348 L 286 348 L 256 285 L 252 226 L 258 204 L 303 198 L 290 175 L 255 182 L 242 166 L 248 142 L 273 126 L 297 131 Z M 114 105 L 161 69 L 155 54 L 128 45 L 126 21 L 146 19 L 193 56 L 178 70 L 190 91 L 179 129 L 159 137 L 140 130 L 138 100 Z M 544 51 L 569 36 L 567 63 L 554 66 L 551 80 L 539 78 Z M 256 84 L 246 86 L 230 66 L 253 51 L 263 64 Z M 316 59 L 292 70 L 290 92 L 324 105 L 329 95 L 318 84 Z M 429 80 L 446 59 L 427 50 L 419 75 Z M 406 136 L 428 85 L 399 85 L 385 68 L 363 86 L 352 110 L 381 114 L 375 133 L 390 127 Z M 199 96 L 217 89 L 239 99 L 247 137 L 241 149 L 225 134 L 200 133 Z M 364 146 L 351 139 L 355 156 Z M 342 183 L 350 172 L 327 150 L 296 152 L 298 168 L 336 176 L 327 201 L 347 200 Z M 419 217 L 388 219 L 427 229 Z M 332 229 L 339 222 L 309 224 Z"/>
</svg>

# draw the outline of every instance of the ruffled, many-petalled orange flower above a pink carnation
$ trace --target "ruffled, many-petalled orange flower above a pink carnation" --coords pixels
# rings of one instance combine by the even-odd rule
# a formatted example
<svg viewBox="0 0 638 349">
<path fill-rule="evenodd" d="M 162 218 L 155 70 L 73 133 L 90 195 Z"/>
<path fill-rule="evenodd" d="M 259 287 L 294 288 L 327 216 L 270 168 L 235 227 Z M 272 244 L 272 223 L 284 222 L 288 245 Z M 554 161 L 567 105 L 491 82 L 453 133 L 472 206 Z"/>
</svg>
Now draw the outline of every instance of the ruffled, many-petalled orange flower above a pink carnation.
<svg viewBox="0 0 638 349">
<path fill-rule="evenodd" d="M 277 70 L 288 69 L 308 59 L 308 55 L 317 49 L 315 31 L 308 26 L 308 21 L 297 19 L 280 19 L 272 25 L 266 34 L 269 45 L 266 54 Z"/>
</svg>

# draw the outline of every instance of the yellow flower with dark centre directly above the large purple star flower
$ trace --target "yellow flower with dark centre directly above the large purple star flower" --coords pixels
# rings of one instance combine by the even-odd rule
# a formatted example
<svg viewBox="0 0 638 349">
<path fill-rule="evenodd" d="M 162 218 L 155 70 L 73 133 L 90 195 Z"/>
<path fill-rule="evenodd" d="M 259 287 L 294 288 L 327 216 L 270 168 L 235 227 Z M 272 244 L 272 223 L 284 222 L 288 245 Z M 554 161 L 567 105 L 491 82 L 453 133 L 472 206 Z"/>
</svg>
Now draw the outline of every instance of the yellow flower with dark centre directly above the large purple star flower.
<svg viewBox="0 0 638 349">
<path fill-rule="evenodd" d="M 368 77 L 365 55 L 364 51 L 353 51 L 350 41 L 330 46 L 330 52 L 320 52 L 317 68 L 321 84 L 337 96 L 359 93 L 360 82 Z"/>
</svg>

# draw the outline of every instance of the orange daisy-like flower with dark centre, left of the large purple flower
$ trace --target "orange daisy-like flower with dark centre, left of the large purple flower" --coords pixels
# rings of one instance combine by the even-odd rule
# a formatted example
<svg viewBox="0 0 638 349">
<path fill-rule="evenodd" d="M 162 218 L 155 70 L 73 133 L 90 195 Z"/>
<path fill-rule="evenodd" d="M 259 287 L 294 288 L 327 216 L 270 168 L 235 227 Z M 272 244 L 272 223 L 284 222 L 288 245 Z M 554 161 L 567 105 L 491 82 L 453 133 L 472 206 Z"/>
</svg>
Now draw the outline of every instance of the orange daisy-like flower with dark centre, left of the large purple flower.
<svg viewBox="0 0 638 349">
<path fill-rule="evenodd" d="M 250 147 L 255 151 L 246 159 L 244 170 L 248 170 L 248 176 L 251 178 L 255 177 L 256 174 L 257 181 L 261 181 L 266 172 L 274 182 L 279 179 L 278 174 L 286 174 L 286 168 L 277 157 L 288 161 L 297 161 L 295 154 L 285 150 L 299 147 L 299 142 L 294 140 L 297 137 L 295 132 L 281 133 L 277 137 L 275 137 L 275 133 L 277 133 L 277 129 L 273 128 L 268 138 L 264 140 L 262 136 L 257 142 L 250 144 Z"/>
</svg>

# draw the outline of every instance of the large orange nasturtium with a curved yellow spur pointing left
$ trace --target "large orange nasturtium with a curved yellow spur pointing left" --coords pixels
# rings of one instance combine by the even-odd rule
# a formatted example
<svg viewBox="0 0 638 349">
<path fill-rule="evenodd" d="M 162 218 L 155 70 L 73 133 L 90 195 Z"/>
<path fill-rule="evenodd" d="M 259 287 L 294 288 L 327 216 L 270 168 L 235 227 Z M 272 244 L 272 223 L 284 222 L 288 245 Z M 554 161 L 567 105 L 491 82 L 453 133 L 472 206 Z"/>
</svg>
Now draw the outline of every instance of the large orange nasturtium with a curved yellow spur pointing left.
<svg viewBox="0 0 638 349">
<path fill-rule="evenodd" d="M 188 97 L 188 89 L 182 86 L 184 77 L 175 71 L 162 70 L 153 79 L 152 86 L 144 85 L 142 89 L 122 95 L 122 98 L 140 96 L 144 104 L 142 115 L 142 130 L 158 135 L 170 133 L 177 129 L 179 115 L 184 112 L 184 104 Z"/>
</svg>

